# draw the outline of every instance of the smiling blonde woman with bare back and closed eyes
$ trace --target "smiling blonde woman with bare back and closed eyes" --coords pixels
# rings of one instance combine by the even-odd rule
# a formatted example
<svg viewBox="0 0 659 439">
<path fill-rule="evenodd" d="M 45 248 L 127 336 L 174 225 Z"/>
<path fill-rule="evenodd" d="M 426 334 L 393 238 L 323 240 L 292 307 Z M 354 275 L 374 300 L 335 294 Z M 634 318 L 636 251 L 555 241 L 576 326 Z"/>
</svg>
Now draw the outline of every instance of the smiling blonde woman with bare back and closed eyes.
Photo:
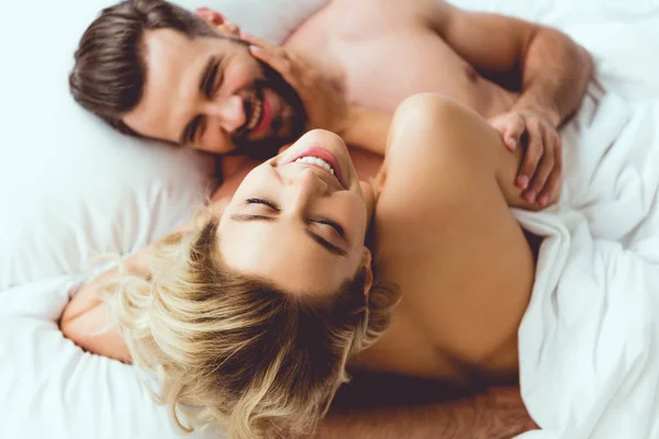
<svg viewBox="0 0 659 439">
<path fill-rule="evenodd" d="M 365 110 L 326 114 L 387 132 Z M 129 349 L 92 350 L 157 373 L 177 421 L 193 407 L 236 438 L 309 432 L 347 365 L 466 384 L 516 373 L 535 264 L 509 209 L 525 203 L 518 155 L 436 95 L 406 100 L 389 133 L 373 183 L 326 131 L 256 167 L 223 210 L 159 243 L 148 270 L 134 259 L 144 277 L 109 299 Z M 85 301 L 63 317 L 83 347 L 77 317 L 102 313 Z"/>
</svg>

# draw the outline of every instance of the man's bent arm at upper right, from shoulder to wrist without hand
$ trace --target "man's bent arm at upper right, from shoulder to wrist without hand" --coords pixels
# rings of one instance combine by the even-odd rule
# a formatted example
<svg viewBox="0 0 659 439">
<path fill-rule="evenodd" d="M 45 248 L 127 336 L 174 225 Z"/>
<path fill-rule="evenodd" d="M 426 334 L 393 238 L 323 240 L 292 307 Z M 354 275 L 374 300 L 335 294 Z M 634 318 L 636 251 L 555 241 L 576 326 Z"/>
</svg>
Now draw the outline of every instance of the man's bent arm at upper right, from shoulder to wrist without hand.
<svg viewBox="0 0 659 439">
<path fill-rule="evenodd" d="M 536 23 L 429 0 L 427 18 L 477 70 L 521 77 L 514 109 L 541 109 L 555 126 L 579 108 L 592 75 L 588 52 L 566 34 Z"/>
</svg>

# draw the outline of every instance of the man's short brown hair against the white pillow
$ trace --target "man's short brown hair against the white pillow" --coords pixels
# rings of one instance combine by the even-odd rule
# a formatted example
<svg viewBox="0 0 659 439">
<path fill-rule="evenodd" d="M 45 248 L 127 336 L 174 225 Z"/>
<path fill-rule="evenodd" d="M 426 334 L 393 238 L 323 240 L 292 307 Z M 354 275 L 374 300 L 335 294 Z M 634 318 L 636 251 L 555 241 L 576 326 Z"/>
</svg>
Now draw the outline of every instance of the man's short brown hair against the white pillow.
<svg viewBox="0 0 659 439">
<path fill-rule="evenodd" d="M 189 37 L 219 36 L 201 18 L 163 0 L 125 0 L 104 9 L 80 38 L 69 76 L 74 99 L 124 134 L 121 117 L 142 99 L 144 33 L 174 29 Z"/>
</svg>

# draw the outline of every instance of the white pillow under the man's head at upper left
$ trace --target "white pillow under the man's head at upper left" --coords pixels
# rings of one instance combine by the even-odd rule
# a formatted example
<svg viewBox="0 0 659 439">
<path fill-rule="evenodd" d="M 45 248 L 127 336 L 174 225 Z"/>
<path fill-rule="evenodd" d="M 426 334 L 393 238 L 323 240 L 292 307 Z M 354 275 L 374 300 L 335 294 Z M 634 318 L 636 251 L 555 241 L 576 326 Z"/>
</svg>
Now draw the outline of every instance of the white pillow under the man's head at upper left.
<svg viewBox="0 0 659 439">
<path fill-rule="evenodd" d="M 78 41 L 113 3 L 0 4 L 0 291 L 138 249 L 185 222 L 210 188 L 209 157 L 120 135 L 70 97 Z M 325 0 L 177 3 L 215 8 L 280 43 Z"/>
</svg>

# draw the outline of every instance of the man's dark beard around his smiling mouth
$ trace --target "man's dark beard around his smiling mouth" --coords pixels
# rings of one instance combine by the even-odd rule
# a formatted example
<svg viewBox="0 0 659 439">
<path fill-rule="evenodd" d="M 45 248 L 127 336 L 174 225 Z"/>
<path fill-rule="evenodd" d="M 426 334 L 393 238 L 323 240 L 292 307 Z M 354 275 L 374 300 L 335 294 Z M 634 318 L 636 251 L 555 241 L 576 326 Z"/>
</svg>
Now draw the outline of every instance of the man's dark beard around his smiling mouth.
<svg viewBox="0 0 659 439">
<path fill-rule="evenodd" d="M 293 89 L 293 87 L 291 87 L 291 85 L 289 85 L 272 67 L 259 59 L 257 59 L 257 61 L 263 69 L 264 79 L 255 81 L 255 92 L 260 99 L 263 99 L 264 88 L 269 88 L 281 99 L 283 99 L 286 103 L 293 110 L 293 115 L 290 117 L 290 127 L 288 133 L 284 133 L 283 135 L 276 134 L 275 136 L 266 137 L 259 140 L 250 140 L 245 137 L 243 133 L 238 133 L 232 138 L 236 149 L 231 154 L 246 155 L 253 159 L 265 160 L 275 157 L 279 151 L 279 148 L 286 144 L 297 140 L 304 133 L 304 128 L 306 126 L 306 112 L 304 111 L 304 105 L 302 104 L 302 100 L 300 99 L 300 95 L 295 89 Z M 249 104 L 245 103 L 245 105 Z M 245 110 L 245 114 L 247 116 L 252 115 L 252 111 L 254 111 L 253 109 Z"/>
</svg>

